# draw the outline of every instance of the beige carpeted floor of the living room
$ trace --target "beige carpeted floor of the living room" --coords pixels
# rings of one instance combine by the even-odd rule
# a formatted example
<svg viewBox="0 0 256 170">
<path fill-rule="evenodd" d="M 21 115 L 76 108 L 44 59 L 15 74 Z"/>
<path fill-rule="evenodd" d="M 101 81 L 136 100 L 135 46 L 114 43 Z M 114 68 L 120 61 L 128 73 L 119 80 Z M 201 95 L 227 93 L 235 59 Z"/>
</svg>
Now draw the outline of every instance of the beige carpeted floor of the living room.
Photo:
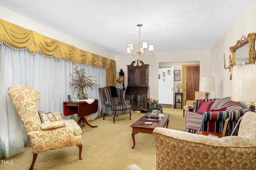
<svg viewBox="0 0 256 170">
<path fill-rule="evenodd" d="M 169 129 L 184 131 L 184 118 L 182 109 L 164 107 L 164 113 L 170 114 Z M 85 125 L 83 131 L 83 160 L 78 158 L 78 147 L 65 147 L 56 150 L 38 153 L 34 170 L 125 170 L 131 164 L 137 164 L 142 170 L 156 168 L 156 149 L 152 134 L 138 133 L 135 135 L 136 145 L 132 149 L 132 127 L 130 125 L 145 113 L 132 113 L 116 117 L 113 124 L 111 115 L 106 115 L 105 120 L 99 117 L 89 121 L 91 128 Z M 8 160 L 12 164 L 0 164 L 4 170 L 28 170 L 32 162 L 32 149 L 25 147 L 24 152 Z M 2 162 L 2 161 L 1 161 Z"/>
</svg>

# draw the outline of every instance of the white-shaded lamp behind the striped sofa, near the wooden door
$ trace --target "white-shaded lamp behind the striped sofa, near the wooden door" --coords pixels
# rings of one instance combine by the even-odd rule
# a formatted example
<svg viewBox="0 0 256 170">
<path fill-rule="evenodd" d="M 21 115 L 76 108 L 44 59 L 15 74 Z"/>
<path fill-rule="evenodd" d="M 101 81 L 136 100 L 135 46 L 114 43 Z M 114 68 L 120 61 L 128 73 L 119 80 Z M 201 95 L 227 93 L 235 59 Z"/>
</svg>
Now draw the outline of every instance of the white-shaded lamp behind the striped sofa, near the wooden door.
<svg viewBox="0 0 256 170">
<path fill-rule="evenodd" d="M 215 92 L 215 79 L 214 77 L 200 77 L 199 91 L 206 92 L 205 99 L 208 100 L 208 92 Z"/>
</svg>

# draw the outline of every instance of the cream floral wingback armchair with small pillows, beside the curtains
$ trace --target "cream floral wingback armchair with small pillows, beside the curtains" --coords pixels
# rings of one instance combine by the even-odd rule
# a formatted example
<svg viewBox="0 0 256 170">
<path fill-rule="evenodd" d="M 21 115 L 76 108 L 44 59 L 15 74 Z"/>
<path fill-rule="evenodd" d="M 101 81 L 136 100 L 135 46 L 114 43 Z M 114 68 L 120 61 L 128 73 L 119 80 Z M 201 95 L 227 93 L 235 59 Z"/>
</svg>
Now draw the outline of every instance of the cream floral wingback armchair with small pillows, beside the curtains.
<svg viewBox="0 0 256 170">
<path fill-rule="evenodd" d="M 32 144 L 33 169 L 38 152 L 77 145 L 82 159 L 82 130 L 73 120 L 62 119 L 62 114 L 37 110 L 40 98 L 38 90 L 21 84 L 10 86 L 8 95 Z"/>
</svg>

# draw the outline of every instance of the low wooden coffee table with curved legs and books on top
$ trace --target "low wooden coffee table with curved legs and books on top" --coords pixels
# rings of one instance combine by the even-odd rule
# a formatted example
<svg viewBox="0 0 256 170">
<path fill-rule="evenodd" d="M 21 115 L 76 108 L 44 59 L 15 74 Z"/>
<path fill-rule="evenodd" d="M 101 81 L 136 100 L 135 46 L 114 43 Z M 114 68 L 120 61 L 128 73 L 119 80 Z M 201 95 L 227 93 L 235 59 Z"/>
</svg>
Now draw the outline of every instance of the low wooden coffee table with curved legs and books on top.
<svg viewBox="0 0 256 170">
<path fill-rule="evenodd" d="M 153 134 L 153 131 L 156 127 L 165 127 L 168 128 L 168 123 L 169 123 L 169 114 L 164 114 L 164 117 L 161 117 L 160 120 L 148 120 L 146 119 L 146 113 L 144 116 L 140 117 L 136 122 L 134 122 L 131 127 L 132 127 L 132 140 L 133 140 L 133 146 L 132 149 L 135 147 L 135 139 L 134 136 L 137 133 L 151 133 Z M 151 125 L 146 125 L 145 122 L 152 122 Z"/>
</svg>

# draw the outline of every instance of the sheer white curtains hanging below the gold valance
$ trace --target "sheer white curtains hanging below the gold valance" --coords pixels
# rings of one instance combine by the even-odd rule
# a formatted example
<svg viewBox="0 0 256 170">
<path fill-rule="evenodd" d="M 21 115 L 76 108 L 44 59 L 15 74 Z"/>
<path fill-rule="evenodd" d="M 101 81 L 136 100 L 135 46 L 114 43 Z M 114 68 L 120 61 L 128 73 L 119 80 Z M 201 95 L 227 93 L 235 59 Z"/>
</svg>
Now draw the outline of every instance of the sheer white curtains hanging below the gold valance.
<svg viewBox="0 0 256 170">
<path fill-rule="evenodd" d="M 31 55 L 28 51 L 16 51 L 2 44 L 0 45 L 0 158 L 10 157 L 23 152 L 23 147 L 29 143 L 26 131 L 20 122 L 20 118 L 14 109 L 7 94 L 9 86 L 23 84 L 31 86 L 40 92 L 38 110 L 45 112 L 63 113 L 62 103 L 68 100 L 68 95 L 74 99 L 77 92 L 72 91 L 69 82 L 70 74 L 74 68 L 85 68 L 86 76 L 95 76 L 99 87 L 106 86 L 106 70 L 92 68 L 85 64 L 72 64 L 64 60 L 56 61 L 54 57 L 47 58 L 40 53 Z M 100 99 L 98 88 L 86 90 L 88 98 Z M 89 115 L 87 120 L 102 116 L 99 102 L 98 112 Z M 75 119 L 77 114 L 64 116 L 64 119 Z"/>
</svg>

